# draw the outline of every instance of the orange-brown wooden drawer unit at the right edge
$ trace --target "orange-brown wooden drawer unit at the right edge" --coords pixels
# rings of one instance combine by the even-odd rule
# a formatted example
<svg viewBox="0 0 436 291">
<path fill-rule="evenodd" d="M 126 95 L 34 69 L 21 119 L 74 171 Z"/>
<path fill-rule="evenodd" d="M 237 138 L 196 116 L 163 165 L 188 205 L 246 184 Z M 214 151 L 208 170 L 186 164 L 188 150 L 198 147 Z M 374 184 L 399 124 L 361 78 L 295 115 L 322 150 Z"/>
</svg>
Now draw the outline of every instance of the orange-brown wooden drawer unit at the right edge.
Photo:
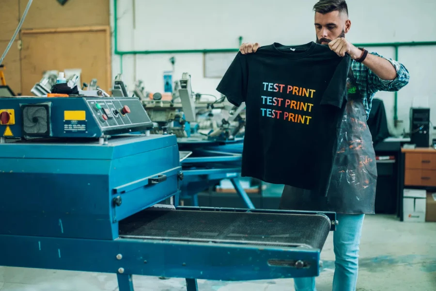
<svg viewBox="0 0 436 291">
<path fill-rule="evenodd" d="M 405 153 L 405 186 L 436 187 L 436 150 L 403 149 Z"/>
</svg>

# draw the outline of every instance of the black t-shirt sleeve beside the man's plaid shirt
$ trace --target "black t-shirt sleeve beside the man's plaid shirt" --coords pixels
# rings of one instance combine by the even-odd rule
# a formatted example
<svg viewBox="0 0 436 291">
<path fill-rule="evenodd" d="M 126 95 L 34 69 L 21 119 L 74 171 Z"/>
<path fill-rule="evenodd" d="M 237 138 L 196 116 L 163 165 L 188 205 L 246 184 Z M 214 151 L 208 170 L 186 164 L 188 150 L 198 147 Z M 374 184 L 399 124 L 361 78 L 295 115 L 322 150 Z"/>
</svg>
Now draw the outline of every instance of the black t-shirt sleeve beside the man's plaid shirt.
<svg viewBox="0 0 436 291">
<path fill-rule="evenodd" d="M 345 56 L 336 67 L 321 104 L 329 104 L 342 108 L 343 101 L 347 100 L 347 77 L 351 66 L 351 58 Z"/>
</svg>

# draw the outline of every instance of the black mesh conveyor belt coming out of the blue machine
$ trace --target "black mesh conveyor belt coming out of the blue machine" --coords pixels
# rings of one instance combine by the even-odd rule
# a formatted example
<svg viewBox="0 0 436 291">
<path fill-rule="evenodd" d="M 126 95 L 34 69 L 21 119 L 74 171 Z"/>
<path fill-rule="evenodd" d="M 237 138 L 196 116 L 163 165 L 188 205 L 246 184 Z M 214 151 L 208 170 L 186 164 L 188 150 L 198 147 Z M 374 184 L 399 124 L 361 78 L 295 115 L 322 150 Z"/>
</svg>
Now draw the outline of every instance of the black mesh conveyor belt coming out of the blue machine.
<svg viewBox="0 0 436 291">
<path fill-rule="evenodd" d="M 324 215 L 198 210 L 146 210 L 119 223 L 120 237 L 301 246 L 322 249 Z"/>
</svg>

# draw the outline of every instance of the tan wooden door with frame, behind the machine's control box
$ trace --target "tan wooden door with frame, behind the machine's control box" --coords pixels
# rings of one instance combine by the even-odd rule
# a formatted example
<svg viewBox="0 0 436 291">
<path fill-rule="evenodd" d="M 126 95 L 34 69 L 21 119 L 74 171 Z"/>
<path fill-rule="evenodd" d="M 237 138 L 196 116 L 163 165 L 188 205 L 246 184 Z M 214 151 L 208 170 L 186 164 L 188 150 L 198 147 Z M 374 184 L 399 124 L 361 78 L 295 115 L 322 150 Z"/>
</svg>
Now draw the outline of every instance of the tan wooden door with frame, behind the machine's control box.
<svg viewBox="0 0 436 291">
<path fill-rule="evenodd" d="M 109 26 L 23 30 L 21 41 L 23 95 L 31 95 L 31 88 L 44 71 L 64 69 L 81 69 L 82 82 L 96 78 L 97 85 L 109 91 Z"/>
</svg>

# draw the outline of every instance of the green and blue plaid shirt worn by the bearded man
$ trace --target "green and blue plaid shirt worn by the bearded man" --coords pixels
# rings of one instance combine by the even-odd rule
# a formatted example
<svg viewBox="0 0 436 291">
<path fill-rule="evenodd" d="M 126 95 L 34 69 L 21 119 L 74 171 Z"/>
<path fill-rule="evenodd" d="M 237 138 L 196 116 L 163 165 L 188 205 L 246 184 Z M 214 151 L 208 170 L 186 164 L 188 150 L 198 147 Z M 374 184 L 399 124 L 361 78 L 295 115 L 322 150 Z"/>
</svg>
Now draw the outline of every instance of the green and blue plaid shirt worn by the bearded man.
<svg viewBox="0 0 436 291">
<path fill-rule="evenodd" d="M 396 62 L 392 59 L 385 58 L 375 52 L 371 54 L 382 57 L 388 60 L 397 71 L 397 78 L 394 80 L 382 80 L 374 74 L 367 66 L 352 60 L 351 70 L 353 71 L 354 78 L 356 79 L 360 97 L 363 101 L 363 106 L 366 111 L 366 118 L 368 119 L 371 111 L 374 95 L 377 91 L 394 92 L 403 88 L 409 82 L 409 72 L 403 64 Z"/>
</svg>

